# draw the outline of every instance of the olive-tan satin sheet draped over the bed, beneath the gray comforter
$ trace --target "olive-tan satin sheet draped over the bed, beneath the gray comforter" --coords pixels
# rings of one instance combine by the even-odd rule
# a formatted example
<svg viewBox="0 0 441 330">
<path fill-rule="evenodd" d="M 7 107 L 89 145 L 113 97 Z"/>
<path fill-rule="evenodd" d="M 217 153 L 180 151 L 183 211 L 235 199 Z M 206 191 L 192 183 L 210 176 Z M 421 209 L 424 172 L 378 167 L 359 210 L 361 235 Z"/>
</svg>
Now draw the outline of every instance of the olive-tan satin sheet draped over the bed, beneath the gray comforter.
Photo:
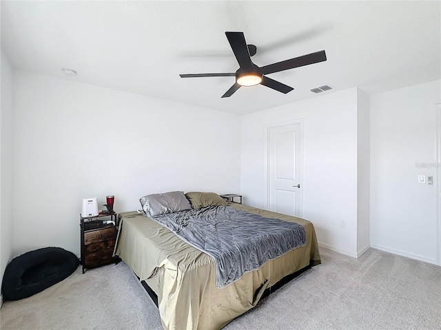
<svg viewBox="0 0 441 330">
<path fill-rule="evenodd" d="M 191 205 L 200 207 L 195 200 Z M 114 254 L 156 294 L 164 329 L 220 329 L 252 309 L 265 289 L 289 274 L 320 264 L 316 232 L 310 221 L 238 203 L 227 205 L 235 210 L 299 223 L 305 228 L 306 243 L 267 261 L 257 270 L 245 272 L 225 287 L 217 287 L 212 256 L 144 214 L 136 211 L 119 214 Z"/>
</svg>

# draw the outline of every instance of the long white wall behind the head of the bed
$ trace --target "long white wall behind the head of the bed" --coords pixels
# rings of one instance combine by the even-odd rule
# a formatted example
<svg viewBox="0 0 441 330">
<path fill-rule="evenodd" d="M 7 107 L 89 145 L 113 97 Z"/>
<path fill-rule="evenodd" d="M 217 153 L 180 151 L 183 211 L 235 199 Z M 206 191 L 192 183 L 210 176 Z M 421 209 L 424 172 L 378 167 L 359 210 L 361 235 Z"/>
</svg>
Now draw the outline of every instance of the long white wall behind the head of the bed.
<svg viewBox="0 0 441 330">
<path fill-rule="evenodd" d="M 237 115 L 73 80 L 14 75 L 14 254 L 78 255 L 83 198 L 123 212 L 154 192 L 240 192 Z"/>
</svg>

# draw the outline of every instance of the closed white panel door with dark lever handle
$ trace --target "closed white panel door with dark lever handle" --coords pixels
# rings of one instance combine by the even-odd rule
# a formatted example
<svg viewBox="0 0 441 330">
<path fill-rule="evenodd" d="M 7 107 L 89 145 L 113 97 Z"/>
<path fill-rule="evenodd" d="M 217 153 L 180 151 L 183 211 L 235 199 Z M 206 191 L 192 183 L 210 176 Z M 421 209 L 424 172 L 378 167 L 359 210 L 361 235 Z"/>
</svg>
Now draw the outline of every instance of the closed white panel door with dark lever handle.
<svg viewBox="0 0 441 330">
<path fill-rule="evenodd" d="M 269 127 L 267 131 L 267 201 L 271 211 L 302 216 L 301 124 Z"/>
</svg>

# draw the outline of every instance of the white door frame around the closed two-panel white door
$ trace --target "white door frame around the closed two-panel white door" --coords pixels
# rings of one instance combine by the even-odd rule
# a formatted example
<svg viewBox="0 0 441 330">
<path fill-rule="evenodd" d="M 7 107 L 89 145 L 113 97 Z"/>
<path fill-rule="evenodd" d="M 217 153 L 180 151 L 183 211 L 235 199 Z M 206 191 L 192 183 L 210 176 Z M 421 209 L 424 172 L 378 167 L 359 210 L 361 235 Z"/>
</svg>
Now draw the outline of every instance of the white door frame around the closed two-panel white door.
<svg viewBox="0 0 441 330">
<path fill-rule="evenodd" d="M 300 124 L 300 218 L 303 217 L 303 118 L 288 120 L 286 122 L 276 122 L 265 125 L 265 209 L 269 210 L 269 131 L 276 127 L 289 126 L 292 124 Z"/>
</svg>

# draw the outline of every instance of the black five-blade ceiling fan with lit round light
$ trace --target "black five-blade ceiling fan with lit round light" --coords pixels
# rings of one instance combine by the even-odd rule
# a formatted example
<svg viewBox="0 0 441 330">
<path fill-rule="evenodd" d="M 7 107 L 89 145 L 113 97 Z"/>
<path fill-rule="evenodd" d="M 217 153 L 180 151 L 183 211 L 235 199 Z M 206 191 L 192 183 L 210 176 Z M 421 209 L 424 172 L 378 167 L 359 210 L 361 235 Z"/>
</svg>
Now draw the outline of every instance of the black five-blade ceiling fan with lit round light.
<svg viewBox="0 0 441 330">
<path fill-rule="evenodd" d="M 302 67 L 314 63 L 326 61 L 326 54 L 324 50 L 315 52 L 286 61 L 265 65 L 258 67 L 251 61 L 251 56 L 256 54 L 257 47 L 255 45 L 247 45 L 243 32 L 225 32 L 229 45 L 232 46 L 234 56 L 239 63 L 239 69 L 234 73 L 219 73 L 219 74 L 180 74 L 181 78 L 197 78 L 197 77 L 236 77 L 236 83 L 223 94 L 223 98 L 229 98 L 235 91 L 242 86 L 264 85 L 266 87 L 280 91 L 287 94 L 294 88 L 289 87 L 277 80 L 268 78 L 265 74 L 273 74 L 284 70 L 294 69 L 295 67 Z"/>
</svg>

